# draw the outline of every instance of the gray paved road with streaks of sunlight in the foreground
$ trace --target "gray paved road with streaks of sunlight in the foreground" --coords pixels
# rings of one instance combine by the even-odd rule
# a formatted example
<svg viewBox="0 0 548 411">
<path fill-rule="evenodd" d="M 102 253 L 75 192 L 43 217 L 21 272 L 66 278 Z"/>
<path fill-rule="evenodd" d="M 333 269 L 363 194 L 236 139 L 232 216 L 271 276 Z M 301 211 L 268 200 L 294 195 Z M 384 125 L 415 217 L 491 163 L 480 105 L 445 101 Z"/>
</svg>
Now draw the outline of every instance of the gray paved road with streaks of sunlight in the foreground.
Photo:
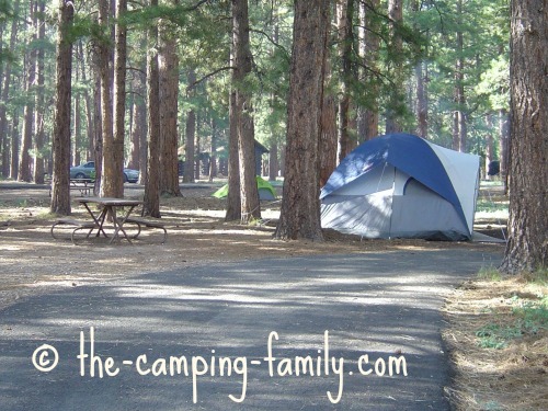
<svg viewBox="0 0 548 411">
<path fill-rule="evenodd" d="M 439 307 L 499 260 L 248 261 L 28 298 L 0 311 L 0 410 L 448 410 Z"/>
</svg>

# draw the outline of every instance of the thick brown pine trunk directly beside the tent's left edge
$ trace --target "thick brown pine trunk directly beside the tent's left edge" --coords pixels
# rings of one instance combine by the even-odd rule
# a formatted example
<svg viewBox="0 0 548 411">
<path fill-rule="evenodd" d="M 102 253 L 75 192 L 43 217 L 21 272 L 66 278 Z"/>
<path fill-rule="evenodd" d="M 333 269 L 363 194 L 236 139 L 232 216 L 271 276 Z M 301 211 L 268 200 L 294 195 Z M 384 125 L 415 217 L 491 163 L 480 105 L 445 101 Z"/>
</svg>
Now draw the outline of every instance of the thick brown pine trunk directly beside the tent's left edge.
<svg viewBox="0 0 548 411">
<path fill-rule="evenodd" d="M 286 179 L 275 237 L 323 239 L 319 142 L 327 59 L 329 0 L 295 1 L 287 109 Z"/>
</svg>

